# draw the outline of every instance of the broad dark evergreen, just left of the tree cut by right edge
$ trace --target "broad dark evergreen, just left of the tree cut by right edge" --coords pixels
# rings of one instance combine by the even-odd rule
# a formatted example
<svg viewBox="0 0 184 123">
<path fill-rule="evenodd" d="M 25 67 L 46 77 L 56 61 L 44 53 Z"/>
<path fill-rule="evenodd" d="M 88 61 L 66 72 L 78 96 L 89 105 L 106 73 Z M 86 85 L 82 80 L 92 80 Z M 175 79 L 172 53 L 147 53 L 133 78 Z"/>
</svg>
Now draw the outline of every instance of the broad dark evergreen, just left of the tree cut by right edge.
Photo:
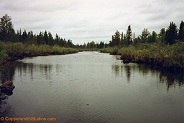
<svg viewBox="0 0 184 123">
<path fill-rule="evenodd" d="M 171 22 L 167 31 L 165 41 L 166 44 L 174 44 L 177 38 L 177 26 L 175 23 Z"/>
</svg>

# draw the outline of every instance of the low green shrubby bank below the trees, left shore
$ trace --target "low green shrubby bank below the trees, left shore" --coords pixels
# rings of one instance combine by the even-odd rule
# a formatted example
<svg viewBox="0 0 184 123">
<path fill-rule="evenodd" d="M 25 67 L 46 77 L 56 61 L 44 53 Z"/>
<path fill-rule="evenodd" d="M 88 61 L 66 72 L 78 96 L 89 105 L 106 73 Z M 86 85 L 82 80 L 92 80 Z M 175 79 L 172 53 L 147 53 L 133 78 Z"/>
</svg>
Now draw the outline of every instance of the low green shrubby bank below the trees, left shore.
<svg viewBox="0 0 184 123">
<path fill-rule="evenodd" d="M 78 52 L 78 50 L 73 48 L 64 48 L 57 45 L 28 45 L 22 43 L 0 42 L 0 63 L 2 64 L 6 61 L 13 61 L 25 57 L 63 55 L 76 52 Z"/>
</svg>

